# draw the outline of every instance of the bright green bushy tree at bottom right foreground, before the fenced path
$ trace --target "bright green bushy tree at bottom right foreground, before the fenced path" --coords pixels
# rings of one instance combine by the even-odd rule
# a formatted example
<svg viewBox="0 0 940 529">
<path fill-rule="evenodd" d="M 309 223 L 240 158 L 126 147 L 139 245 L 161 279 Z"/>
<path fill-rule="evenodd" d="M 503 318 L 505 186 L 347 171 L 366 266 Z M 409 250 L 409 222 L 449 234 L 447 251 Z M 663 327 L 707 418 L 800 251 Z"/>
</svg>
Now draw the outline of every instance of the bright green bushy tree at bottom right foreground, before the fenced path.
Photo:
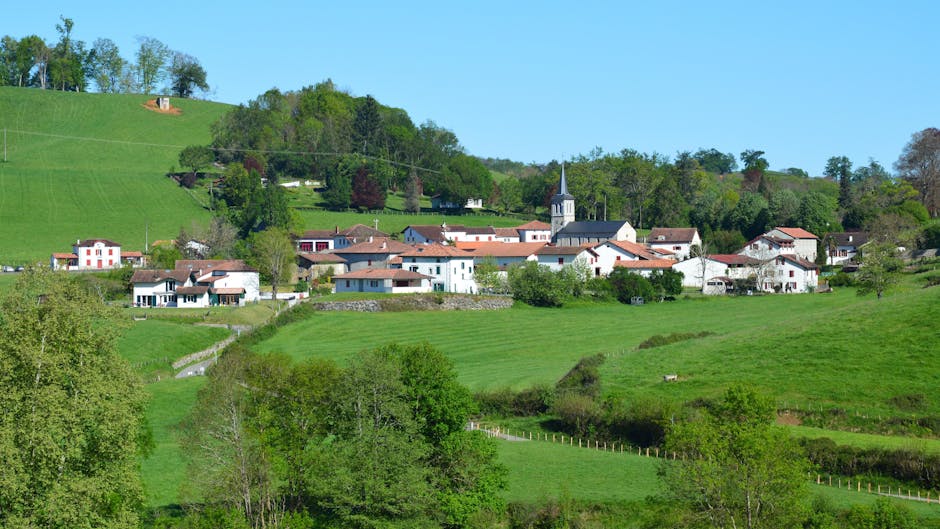
<svg viewBox="0 0 940 529">
<path fill-rule="evenodd" d="M 774 418 L 769 398 L 732 386 L 700 420 L 672 424 L 666 449 L 682 457 L 660 471 L 670 494 L 712 527 L 797 526 L 808 462 Z"/>
</svg>

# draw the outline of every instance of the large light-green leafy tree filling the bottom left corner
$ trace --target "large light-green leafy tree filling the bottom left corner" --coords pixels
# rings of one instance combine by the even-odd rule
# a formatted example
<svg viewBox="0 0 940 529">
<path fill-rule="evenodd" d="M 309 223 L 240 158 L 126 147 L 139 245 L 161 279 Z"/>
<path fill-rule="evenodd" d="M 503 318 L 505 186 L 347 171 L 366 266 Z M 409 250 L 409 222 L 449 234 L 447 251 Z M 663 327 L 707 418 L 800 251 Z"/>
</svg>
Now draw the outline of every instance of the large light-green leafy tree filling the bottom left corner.
<svg viewBox="0 0 940 529">
<path fill-rule="evenodd" d="M 147 397 L 121 321 L 41 268 L 0 301 L 0 526 L 138 527 Z"/>
</svg>

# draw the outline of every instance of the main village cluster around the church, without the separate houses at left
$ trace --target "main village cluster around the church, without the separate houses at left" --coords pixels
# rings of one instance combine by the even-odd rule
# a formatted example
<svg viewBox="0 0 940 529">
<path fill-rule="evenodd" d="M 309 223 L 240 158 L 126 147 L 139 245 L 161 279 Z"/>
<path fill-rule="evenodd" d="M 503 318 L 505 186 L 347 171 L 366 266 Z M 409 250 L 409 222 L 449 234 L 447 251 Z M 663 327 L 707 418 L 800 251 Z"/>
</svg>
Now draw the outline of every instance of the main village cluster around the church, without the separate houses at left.
<svg viewBox="0 0 940 529">
<path fill-rule="evenodd" d="M 551 224 L 528 222 L 514 228 L 412 225 L 399 237 L 368 226 L 312 230 L 296 237 L 301 277 L 329 275 L 337 292 L 477 293 L 474 269 L 491 262 L 499 270 L 534 261 L 552 270 L 579 263 L 602 277 L 615 267 L 644 276 L 673 269 L 683 285 L 707 294 L 732 291 L 751 278 L 766 292 L 812 292 L 819 283 L 815 264 L 819 238 L 801 228 L 778 227 L 750 241 L 736 254 L 701 255 L 695 228 L 654 228 L 643 243 L 626 221 L 575 221 L 574 197 L 562 169 L 552 197 Z M 864 234 L 836 234 L 827 259 L 852 259 Z"/>
</svg>

